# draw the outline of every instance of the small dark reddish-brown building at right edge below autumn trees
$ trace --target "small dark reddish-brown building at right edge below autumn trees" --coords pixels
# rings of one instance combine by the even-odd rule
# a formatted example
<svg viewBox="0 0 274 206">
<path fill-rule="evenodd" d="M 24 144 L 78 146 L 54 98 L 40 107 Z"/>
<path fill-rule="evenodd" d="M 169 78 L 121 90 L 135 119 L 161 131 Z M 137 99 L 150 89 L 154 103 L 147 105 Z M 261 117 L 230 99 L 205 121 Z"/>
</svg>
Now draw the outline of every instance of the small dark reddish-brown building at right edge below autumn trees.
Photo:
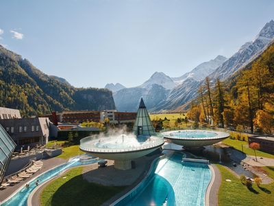
<svg viewBox="0 0 274 206">
<path fill-rule="evenodd" d="M 274 135 L 254 135 L 248 137 L 249 144 L 260 144 L 260 150 L 274 155 Z"/>
</svg>

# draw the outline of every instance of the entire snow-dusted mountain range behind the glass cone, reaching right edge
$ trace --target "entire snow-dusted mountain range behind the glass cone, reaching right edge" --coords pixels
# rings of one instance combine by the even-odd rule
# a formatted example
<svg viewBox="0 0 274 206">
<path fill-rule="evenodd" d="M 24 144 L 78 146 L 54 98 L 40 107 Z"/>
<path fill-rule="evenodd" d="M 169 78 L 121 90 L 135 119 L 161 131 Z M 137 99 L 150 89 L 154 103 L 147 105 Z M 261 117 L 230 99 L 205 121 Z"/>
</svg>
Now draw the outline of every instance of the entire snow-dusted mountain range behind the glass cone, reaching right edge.
<svg viewBox="0 0 274 206">
<path fill-rule="evenodd" d="M 175 109 L 197 97 L 197 90 L 206 76 L 209 76 L 213 82 L 216 78 L 221 80 L 229 78 L 261 54 L 273 38 L 274 21 L 271 20 L 264 25 L 253 41 L 242 45 L 238 52 L 228 59 L 217 56 L 213 60 L 201 63 L 179 78 L 169 78 L 162 72 L 155 72 L 139 87 L 117 91 L 114 93 L 116 107 L 120 111 L 136 111 L 138 100 L 143 97 L 147 108 L 151 111 Z"/>
</svg>

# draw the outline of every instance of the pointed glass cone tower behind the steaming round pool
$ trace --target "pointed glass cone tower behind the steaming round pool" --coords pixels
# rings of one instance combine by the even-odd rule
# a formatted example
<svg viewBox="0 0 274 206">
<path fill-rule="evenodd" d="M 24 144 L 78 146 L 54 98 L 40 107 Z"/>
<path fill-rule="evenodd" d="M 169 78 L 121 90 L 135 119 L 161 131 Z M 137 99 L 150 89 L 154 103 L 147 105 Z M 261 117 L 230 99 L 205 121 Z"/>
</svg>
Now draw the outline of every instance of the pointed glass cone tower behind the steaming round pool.
<svg viewBox="0 0 274 206">
<path fill-rule="evenodd" d="M 134 135 L 152 136 L 155 135 L 155 129 L 152 125 L 149 113 L 145 106 L 144 100 L 140 100 L 140 105 L 137 111 L 136 121 L 133 127 Z"/>
</svg>

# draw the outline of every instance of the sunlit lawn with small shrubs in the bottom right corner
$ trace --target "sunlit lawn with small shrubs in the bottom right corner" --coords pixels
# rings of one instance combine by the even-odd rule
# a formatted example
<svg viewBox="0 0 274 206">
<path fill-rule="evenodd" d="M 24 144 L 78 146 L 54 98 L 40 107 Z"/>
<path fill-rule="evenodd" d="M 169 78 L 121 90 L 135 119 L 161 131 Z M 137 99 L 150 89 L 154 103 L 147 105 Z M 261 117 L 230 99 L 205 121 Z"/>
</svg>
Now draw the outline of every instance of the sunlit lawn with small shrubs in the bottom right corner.
<svg viewBox="0 0 274 206">
<path fill-rule="evenodd" d="M 261 185 L 261 188 L 253 184 L 254 192 L 251 192 L 245 185 L 242 185 L 240 179 L 225 167 L 222 165 L 217 165 L 217 167 L 222 174 L 221 187 L 218 194 L 219 205 L 273 205 L 274 183 Z M 225 181 L 226 179 L 230 179 L 231 182 Z"/>
</svg>

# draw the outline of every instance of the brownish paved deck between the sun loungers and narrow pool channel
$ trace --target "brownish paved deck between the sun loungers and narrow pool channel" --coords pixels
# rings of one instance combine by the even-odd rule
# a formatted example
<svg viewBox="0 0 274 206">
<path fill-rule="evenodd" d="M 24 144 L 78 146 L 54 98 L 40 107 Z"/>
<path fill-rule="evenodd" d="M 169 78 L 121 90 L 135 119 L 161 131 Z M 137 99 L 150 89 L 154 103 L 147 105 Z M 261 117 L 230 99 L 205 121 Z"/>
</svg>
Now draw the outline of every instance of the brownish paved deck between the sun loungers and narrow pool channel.
<svg viewBox="0 0 274 206">
<path fill-rule="evenodd" d="M 13 186 L 8 186 L 5 190 L 1 190 L 0 192 L 0 203 L 4 201 L 6 198 L 8 198 L 10 195 L 12 195 L 16 190 L 18 190 L 20 187 L 25 185 L 27 182 L 31 181 L 34 179 L 36 176 L 42 174 L 43 172 L 46 172 L 47 170 L 50 170 L 51 168 L 54 168 L 57 165 L 60 165 L 62 163 L 65 163 L 65 159 L 61 158 L 51 158 L 51 159 L 44 159 L 42 160 L 43 166 L 41 170 L 36 172 L 34 175 L 30 176 L 29 178 L 20 181 L 20 183 L 13 185 Z"/>
</svg>

